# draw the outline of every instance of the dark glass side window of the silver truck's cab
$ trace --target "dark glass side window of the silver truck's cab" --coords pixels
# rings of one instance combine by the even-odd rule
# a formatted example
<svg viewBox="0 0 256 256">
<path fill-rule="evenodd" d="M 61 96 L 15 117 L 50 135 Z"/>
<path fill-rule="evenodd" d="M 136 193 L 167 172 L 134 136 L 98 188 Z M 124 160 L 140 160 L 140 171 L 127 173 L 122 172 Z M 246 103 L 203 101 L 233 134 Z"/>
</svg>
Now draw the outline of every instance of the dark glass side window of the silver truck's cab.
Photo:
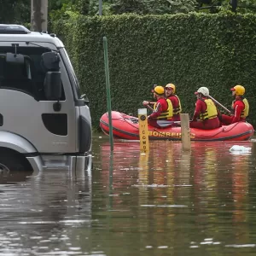
<svg viewBox="0 0 256 256">
<path fill-rule="evenodd" d="M 41 66 L 41 55 L 48 49 L 40 47 L 18 47 L 17 53 L 26 55 L 24 64 L 6 62 L 0 57 L 0 89 L 20 90 L 37 101 L 47 101 L 44 95 L 45 71 Z M 0 47 L 0 54 L 15 53 L 14 47 Z M 61 100 L 65 100 L 62 86 Z"/>
</svg>

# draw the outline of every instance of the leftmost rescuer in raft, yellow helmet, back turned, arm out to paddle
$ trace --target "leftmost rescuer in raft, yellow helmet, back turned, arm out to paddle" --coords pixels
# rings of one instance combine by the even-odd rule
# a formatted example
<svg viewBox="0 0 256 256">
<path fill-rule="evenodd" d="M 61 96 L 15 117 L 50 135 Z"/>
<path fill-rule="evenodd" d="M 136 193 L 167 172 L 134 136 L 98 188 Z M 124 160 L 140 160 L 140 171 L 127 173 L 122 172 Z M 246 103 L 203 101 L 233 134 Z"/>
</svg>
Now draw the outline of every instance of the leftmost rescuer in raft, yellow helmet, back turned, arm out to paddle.
<svg viewBox="0 0 256 256">
<path fill-rule="evenodd" d="M 148 125 L 157 128 L 171 127 L 170 121 L 172 120 L 172 102 L 165 98 L 165 88 L 157 85 L 154 87 L 154 111 L 148 115 Z M 147 106 L 151 102 L 143 101 L 143 105 Z"/>
</svg>

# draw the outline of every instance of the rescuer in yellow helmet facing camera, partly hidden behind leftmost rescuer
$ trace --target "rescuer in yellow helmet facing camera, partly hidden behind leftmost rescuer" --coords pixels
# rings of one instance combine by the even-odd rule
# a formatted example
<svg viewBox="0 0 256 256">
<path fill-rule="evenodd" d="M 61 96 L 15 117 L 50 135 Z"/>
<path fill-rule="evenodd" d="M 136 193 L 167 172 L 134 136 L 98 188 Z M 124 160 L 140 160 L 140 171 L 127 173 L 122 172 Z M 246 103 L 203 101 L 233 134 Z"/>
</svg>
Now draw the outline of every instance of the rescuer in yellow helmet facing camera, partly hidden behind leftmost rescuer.
<svg viewBox="0 0 256 256">
<path fill-rule="evenodd" d="M 169 99 L 172 102 L 173 108 L 173 121 L 180 121 L 179 114 L 182 111 L 181 103 L 178 96 L 175 94 L 176 87 L 174 84 L 166 84 L 166 99 Z"/>
</svg>

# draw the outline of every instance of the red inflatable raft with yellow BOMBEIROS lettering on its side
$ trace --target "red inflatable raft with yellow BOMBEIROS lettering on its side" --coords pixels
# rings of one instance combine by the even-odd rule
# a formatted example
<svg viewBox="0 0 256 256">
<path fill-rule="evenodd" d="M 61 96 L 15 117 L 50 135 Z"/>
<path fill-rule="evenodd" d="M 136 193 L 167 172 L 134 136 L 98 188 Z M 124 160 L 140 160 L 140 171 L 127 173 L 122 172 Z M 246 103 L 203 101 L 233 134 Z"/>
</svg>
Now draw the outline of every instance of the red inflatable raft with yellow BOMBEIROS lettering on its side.
<svg viewBox="0 0 256 256">
<path fill-rule="evenodd" d="M 102 118 L 100 119 L 100 126 L 104 133 L 109 133 L 108 113 L 104 113 L 102 115 Z M 138 121 L 137 118 L 131 115 L 112 111 L 112 126 L 113 137 L 115 138 L 126 140 L 139 139 Z M 212 130 L 191 128 L 190 138 L 191 141 L 246 141 L 253 137 L 253 133 L 253 125 L 250 125 L 247 122 L 238 122 Z M 181 127 L 177 126 L 158 129 L 148 125 L 148 138 L 150 140 L 181 140 Z"/>
</svg>

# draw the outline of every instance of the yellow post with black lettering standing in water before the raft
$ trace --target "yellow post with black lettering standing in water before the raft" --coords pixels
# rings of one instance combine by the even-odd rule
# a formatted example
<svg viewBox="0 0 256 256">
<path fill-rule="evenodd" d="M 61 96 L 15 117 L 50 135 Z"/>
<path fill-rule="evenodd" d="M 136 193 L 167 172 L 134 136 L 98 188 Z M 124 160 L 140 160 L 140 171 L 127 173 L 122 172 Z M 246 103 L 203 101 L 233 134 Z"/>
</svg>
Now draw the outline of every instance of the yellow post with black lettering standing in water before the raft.
<svg viewBox="0 0 256 256">
<path fill-rule="evenodd" d="M 140 133 L 140 149 L 143 152 L 149 151 L 148 142 L 148 119 L 147 108 L 139 108 L 137 110 L 139 120 L 139 133 Z"/>
</svg>

